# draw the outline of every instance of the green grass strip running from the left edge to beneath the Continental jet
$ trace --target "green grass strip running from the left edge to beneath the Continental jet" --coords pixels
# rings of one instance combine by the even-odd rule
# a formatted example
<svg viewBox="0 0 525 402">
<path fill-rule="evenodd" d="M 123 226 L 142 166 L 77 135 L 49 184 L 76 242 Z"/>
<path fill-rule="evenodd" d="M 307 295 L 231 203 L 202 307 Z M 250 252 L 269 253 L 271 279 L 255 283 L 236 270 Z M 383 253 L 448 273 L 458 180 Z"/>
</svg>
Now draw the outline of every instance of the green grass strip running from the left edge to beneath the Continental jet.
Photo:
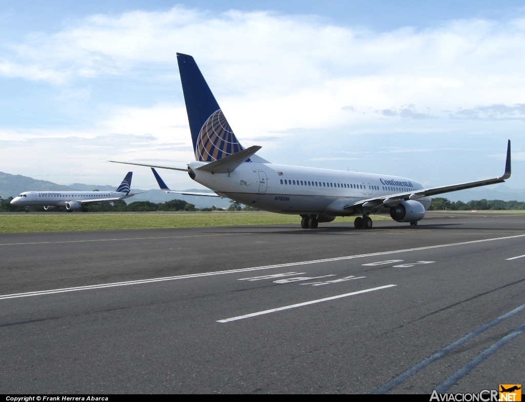
<svg viewBox="0 0 525 402">
<path fill-rule="evenodd" d="M 334 222 L 353 224 L 354 219 L 355 217 L 336 218 Z M 373 219 L 390 220 L 382 216 Z M 269 212 L 6 214 L 0 215 L 0 233 L 191 228 L 193 226 L 299 224 L 300 222 L 299 215 Z"/>
</svg>

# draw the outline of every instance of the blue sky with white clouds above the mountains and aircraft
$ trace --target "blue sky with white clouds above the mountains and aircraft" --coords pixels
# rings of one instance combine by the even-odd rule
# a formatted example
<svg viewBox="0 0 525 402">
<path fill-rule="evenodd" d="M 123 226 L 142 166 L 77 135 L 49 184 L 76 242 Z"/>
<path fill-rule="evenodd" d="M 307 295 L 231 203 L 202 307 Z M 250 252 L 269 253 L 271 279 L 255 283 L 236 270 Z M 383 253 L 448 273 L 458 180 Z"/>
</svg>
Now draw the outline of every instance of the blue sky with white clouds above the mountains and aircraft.
<svg viewBox="0 0 525 402">
<path fill-rule="evenodd" d="M 117 185 L 194 159 L 175 53 L 274 163 L 525 189 L 517 1 L 2 1 L 0 171 Z M 133 188 L 156 188 L 133 167 Z M 173 189 L 202 188 L 162 171 Z"/>
</svg>

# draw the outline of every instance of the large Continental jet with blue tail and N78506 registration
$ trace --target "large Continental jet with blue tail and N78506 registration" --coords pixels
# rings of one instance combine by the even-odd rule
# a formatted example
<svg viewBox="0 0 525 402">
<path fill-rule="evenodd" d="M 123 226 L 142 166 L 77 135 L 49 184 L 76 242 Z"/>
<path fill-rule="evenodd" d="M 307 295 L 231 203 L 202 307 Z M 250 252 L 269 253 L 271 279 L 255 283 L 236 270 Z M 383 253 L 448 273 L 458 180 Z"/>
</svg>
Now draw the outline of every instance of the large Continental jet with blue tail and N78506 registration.
<svg viewBox="0 0 525 402">
<path fill-rule="evenodd" d="M 357 215 L 355 228 L 370 229 L 370 215 L 378 213 L 388 213 L 397 222 L 417 225 L 432 202 L 430 196 L 502 183 L 510 177 L 510 140 L 503 176 L 429 189 L 416 180 L 387 174 L 270 163 L 256 155 L 261 147 L 244 149 L 240 145 L 193 57 L 177 53 L 177 62 L 195 160 L 188 162 L 186 168 L 117 163 L 185 171 L 193 180 L 212 189 L 215 197 L 227 197 L 265 211 L 300 215 L 303 229 L 315 229 L 319 222 L 350 215 Z M 154 174 L 161 189 L 177 192 L 167 188 L 158 173 Z"/>
</svg>

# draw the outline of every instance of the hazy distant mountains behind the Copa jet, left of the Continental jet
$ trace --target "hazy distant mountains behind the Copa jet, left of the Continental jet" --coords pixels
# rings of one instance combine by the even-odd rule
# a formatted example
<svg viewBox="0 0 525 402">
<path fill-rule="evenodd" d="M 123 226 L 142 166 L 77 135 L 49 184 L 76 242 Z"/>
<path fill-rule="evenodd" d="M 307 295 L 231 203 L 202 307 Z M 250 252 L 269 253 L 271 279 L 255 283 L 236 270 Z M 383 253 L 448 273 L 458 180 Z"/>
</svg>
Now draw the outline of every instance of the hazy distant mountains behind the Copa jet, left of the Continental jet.
<svg viewBox="0 0 525 402">
<path fill-rule="evenodd" d="M 97 184 L 82 184 L 73 183 L 70 185 L 60 185 L 46 180 L 36 180 L 20 174 L 9 174 L 0 172 L 0 197 L 9 198 L 16 197 L 24 191 L 115 191 L 117 185 L 97 185 Z M 131 192 L 140 192 L 144 190 L 132 189 Z M 184 191 L 210 192 L 212 190 L 202 189 L 188 189 Z M 208 208 L 215 205 L 218 208 L 229 207 L 229 200 L 215 197 L 195 197 L 192 195 L 166 194 L 162 190 L 150 190 L 142 194 L 134 195 L 126 199 L 127 203 L 133 201 L 150 201 L 150 202 L 166 202 L 170 200 L 184 200 L 194 204 L 197 208 Z"/>
</svg>

